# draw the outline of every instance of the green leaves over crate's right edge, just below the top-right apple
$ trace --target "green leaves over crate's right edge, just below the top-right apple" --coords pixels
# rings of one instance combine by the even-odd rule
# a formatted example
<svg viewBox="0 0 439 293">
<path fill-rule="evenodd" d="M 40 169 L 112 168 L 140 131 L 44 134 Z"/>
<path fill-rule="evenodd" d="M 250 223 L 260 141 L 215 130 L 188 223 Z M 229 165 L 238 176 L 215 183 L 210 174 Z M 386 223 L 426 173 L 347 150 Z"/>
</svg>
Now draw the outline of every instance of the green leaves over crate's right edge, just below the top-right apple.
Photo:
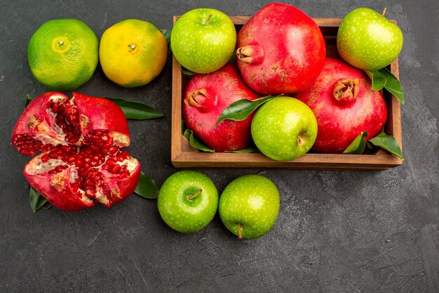
<svg viewBox="0 0 439 293">
<path fill-rule="evenodd" d="M 404 104 L 404 91 L 403 86 L 393 73 L 387 68 L 381 68 L 380 70 L 374 70 L 367 72 L 372 79 L 372 89 L 380 90 L 384 87 L 393 96 L 396 96 L 402 104 Z"/>
</svg>

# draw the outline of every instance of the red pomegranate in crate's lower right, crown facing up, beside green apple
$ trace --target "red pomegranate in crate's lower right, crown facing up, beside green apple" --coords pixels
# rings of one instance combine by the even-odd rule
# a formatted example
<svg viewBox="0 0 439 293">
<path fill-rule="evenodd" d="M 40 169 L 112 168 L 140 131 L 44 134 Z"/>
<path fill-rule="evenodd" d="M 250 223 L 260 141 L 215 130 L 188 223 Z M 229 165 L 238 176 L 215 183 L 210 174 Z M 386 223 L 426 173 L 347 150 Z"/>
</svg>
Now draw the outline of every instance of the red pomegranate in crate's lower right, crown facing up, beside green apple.
<svg viewBox="0 0 439 293">
<path fill-rule="evenodd" d="M 381 91 L 372 91 L 365 72 L 339 59 L 326 58 L 316 82 L 295 98 L 316 115 L 318 133 L 312 148 L 316 152 L 341 153 L 362 131 L 367 131 L 368 140 L 386 123 Z"/>
</svg>

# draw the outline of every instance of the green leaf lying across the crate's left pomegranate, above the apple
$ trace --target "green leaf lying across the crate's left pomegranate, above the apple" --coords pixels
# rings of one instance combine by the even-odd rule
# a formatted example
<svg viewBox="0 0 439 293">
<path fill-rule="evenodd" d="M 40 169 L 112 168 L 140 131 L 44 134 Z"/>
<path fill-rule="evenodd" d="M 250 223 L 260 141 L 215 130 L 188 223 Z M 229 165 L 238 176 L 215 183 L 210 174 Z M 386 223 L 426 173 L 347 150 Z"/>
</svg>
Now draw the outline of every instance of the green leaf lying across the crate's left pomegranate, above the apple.
<svg viewBox="0 0 439 293">
<path fill-rule="evenodd" d="M 257 98 L 256 100 L 247 100 L 245 98 L 237 100 L 236 102 L 231 103 L 229 107 L 225 108 L 224 111 L 222 111 L 215 126 L 217 126 L 219 122 L 222 122 L 225 119 L 242 121 L 250 114 L 252 114 L 252 112 L 255 111 L 260 105 L 277 97 L 278 96 L 266 96 L 262 98 Z"/>
</svg>

